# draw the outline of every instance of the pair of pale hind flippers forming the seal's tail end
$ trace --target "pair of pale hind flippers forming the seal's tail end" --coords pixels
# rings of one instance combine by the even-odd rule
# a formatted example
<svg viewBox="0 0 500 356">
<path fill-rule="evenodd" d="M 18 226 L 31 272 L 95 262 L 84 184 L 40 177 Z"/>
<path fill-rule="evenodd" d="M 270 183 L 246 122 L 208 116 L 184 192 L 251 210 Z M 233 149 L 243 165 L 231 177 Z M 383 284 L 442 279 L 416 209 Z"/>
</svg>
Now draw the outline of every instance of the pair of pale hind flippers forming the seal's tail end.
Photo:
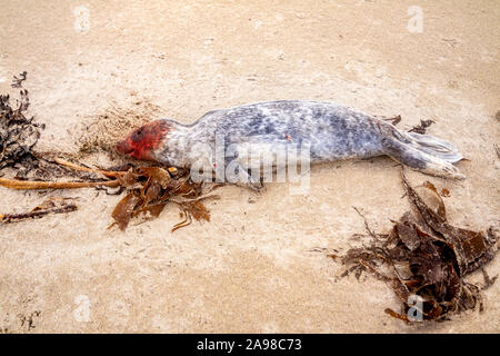
<svg viewBox="0 0 500 356">
<path fill-rule="evenodd" d="M 463 157 L 451 144 L 429 135 L 401 132 L 393 126 L 391 134 L 383 147 L 392 159 L 432 176 L 466 178 L 452 165 Z"/>
</svg>

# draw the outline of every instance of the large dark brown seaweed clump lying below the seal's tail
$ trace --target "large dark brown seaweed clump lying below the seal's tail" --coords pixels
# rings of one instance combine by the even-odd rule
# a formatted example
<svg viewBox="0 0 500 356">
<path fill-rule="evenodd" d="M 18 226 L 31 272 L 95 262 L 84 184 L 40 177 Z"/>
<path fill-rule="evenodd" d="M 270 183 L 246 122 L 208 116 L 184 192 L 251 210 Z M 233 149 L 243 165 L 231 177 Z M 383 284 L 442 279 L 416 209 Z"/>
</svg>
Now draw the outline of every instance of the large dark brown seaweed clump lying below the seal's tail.
<svg viewBox="0 0 500 356">
<path fill-rule="evenodd" d="M 406 212 L 389 235 L 367 229 L 372 244 L 350 249 L 340 257 L 347 269 L 359 276 L 369 271 L 392 287 L 402 304 L 401 313 L 386 309 L 406 322 L 442 320 L 453 313 L 482 310 L 481 289 L 494 283 L 487 278 L 480 288 L 464 280 L 483 268 L 496 255 L 498 234 L 493 228 L 472 231 L 448 222 L 444 204 L 436 187 L 427 181 L 422 189 L 437 202 L 431 208 L 402 177 L 412 210 Z M 359 211 L 358 211 L 359 212 Z"/>
</svg>

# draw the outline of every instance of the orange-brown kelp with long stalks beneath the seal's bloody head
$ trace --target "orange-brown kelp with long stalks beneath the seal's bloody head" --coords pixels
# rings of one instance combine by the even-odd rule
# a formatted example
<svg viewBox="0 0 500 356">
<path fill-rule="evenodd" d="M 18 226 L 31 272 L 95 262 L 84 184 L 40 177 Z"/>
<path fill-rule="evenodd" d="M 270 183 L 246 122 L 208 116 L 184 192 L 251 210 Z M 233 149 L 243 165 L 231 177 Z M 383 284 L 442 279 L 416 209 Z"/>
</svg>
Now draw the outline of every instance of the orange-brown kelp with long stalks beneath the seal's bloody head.
<svg viewBox="0 0 500 356">
<path fill-rule="evenodd" d="M 183 169 L 170 167 L 130 167 L 127 171 L 112 171 L 83 167 L 63 159 L 54 159 L 58 165 L 78 171 L 101 175 L 103 179 L 97 181 L 30 181 L 0 178 L 0 186 L 11 189 L 74 189 L 118 187 L 119 192 L 124 189 L 126 196 L 116 206 L 112 218 L 124 230 L 130 220 L 138 216 L 147 219 L 157 218 L 168 202 L 177 204 L 184 220 L 177 224 L 172 231 L 196 220 L 210 221 L 210 212 L 202 200 L 218 198 L 214 195 L 203 195 L 202 185 L 193 182 L 189 172 Z M 213 189 L 218 186 L 213 186 Z"/>
</svg>

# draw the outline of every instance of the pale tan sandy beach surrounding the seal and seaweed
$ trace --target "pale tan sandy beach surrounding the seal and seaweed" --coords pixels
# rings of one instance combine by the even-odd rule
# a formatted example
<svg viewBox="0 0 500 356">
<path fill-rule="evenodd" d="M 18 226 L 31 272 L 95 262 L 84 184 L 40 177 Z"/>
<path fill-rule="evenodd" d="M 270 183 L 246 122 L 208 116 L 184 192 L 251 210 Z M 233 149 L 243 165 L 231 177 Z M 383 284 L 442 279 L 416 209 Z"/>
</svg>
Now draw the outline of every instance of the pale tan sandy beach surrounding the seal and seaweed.
<svg viewBox="0 0 500 356">
<path fill-rule="evenodd" d="M 447 188 L 449 220 L 500 222 L 500 4 L 479 1 L 2 0 L 0 92 L 28 72 L 40 154 L 93 167 L 124 160 L 114 144 L 167 117 L 278 99 L 324 100 L 376 116 L 421 119 L 468 159 Z M 498 115 L 497 115 L 498 116 Z M 78 210 L 0 225 L 3 333 L 499 333 L 500 284 L 484 312 L 407 325 L 372 276 L 338 278 L 326 250 L 359 246 L 363 219 L 387 233 L 409 210 L 389 158 L 314 166 L 310 190 L 220 188 L 211 221 L 171 233 L 179 209 L 107 229 L 120 196 L 96 189 L 0 188 L 0 214 L 50 196 Z M 500 258 L 487 270 L 500 273 Z M 481 283 L 476 273 L 469 280 Z"/>
</svg>

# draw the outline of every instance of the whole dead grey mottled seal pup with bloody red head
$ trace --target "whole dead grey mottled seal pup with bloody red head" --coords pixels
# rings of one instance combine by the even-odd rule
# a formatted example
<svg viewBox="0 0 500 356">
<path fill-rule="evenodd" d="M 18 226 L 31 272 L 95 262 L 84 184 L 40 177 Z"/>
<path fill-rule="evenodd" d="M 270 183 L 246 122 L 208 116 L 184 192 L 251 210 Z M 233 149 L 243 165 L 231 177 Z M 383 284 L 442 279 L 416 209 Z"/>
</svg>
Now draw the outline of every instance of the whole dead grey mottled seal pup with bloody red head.
<svg viewBox="0 0 500 356">
<path fill-rule="evenodd" d="M 462 156 L 451 144 L 400 131 L 389 122 L 332 102 L 257 102 L 207 112 L 191 125 L 160 119 L 131 132 L 117 150 L 169 166 L 189 168 L 202 162 L 217 169 L 220 140 L 222 166 L 232 165 L 239 180 L 247 182 L 252 182 L 247 174 L 251 166 L 261 165 L 254 157 L 271 151 L 272 165 L 277 165 L 283 152 L 297 146 L 308 147 L 311 164 L 386 155 L 424 174 L 464 178 L 452 165 Z"/>
</svg>

